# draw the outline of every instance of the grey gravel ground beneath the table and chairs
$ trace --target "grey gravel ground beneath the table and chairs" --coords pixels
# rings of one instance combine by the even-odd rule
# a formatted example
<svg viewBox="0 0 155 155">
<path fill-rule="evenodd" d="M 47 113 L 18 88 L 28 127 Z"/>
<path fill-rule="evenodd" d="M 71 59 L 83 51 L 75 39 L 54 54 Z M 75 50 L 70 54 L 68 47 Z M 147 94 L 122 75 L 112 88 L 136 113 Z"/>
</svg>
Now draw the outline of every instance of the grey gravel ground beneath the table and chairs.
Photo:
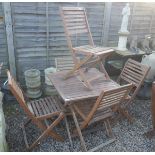
<svg viewBox="0 0 155 155">
<path fill-rule="evenodd" d="M 152 128 L 150 100 L 138 100 L 129 107 L 129 112 L 134 117 L 134 122 L 130 124 L 126 119 L 121 118 L 119 121 L 112 123 L 113 133 L 116 141 L 103 147 L 99 151 L 103 152 L 131 152 L 131 151 L 155 151 L 155 137 L 152 139 L 146 138 L 143 134 Z M 25 144 L 20 123 L 26 116 L 18 104 L 4 104 L 4 112 L 7 123 L 7 142 L 10 151 L 25 151 Z M 101 123 L 97 127 L 102 126 Z M 98 127 L 98 128 L 99 128 Z M 90 127 L 91 128 L 91 127 Z M 89 130 L 89 129 L 88 129 Z M 73 147 L 69 144 L 65 125 L 62 122 L 57 127 L 57 131 L 65 137 L 64 142 L 57 142 L 52 138 L 46 138 L 41 141 L 40 145 L 35 147 L 35 152 L 48 152 L 48 151 L 81 151 L 79 138 L 73 139 Z M 33 124 L 30 124 L 26 129 L 28 140 L 32 141 L 40 134 L 40 130 Z M 84 135 L 88 149 L 107 141 L 108 137 L 105 135 L 104 128 L 99 128 L 97 132 Z"/>
</svg>

